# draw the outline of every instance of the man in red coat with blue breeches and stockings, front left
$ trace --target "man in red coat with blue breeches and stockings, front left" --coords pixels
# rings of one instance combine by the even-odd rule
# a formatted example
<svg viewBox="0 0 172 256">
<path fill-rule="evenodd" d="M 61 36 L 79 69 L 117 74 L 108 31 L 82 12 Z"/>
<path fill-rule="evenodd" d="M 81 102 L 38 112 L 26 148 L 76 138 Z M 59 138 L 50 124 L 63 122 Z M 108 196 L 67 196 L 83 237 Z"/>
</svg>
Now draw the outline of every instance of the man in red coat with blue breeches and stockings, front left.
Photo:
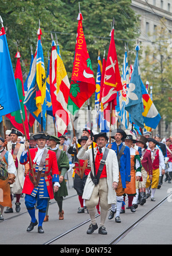
<svg viewBox="0 0 172 256">
<path fill-rule="evenodd" d="M 30 149 L 30 156 L 32 159 L 33 171 L 35 173 L 38 186 L 34 186 L 33 176 L 29 171 L 25 178 L 24 189 L 22 193 L 26 194 L 25 205 L 31 217 L 31 223 L 27 231 L 32 231 L 34 226 L 37 226 L 38 224 L 38 233 L 42 234 L 44 233 L 44 230 L 42 229 L 42 223 L 45 218 L 48 199 L 54 198 L 53 189 L 54 192 L 57 192 L 60 184 L 58 183 L 59 178 L 56 153 L 45 148 L 46 140 L 50 138 L 50 135 L 48 133 L 38 132 L 34 134 L 33 137 L 36 139 L 38 147 Z M 28 147 L 29 143 L 26 142 L 25 151 L 22 153 L 20 158 L 20 163 L 22 165 L 25 165 L 25 163 L 28 163 L 29 161 L 29 155 L 27 152 Z M 43 167 L 42 171 L 40 171 L 41 166 Z M 50 171 L 52 171 L 52 173 L 50 173 Z M 40 174 L 40 180 L 38 178 L 38 174 Z M 37 209 L 39 209 L 38 222 L 36 220 L 34 208 L 36 202 Z"/>
</svg>

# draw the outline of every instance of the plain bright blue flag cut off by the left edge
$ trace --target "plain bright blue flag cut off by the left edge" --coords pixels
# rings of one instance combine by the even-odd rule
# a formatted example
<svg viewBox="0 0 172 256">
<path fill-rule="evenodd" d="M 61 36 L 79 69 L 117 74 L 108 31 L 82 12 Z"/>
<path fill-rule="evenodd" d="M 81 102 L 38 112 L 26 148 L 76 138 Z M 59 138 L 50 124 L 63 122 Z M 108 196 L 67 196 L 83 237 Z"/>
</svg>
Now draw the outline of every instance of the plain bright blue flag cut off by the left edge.
<svg viewBox="0 0 172 256">
<path fill-rule="evenodd" d="M 21 105 L 3 25 L 0 30 L 0 78 L 0 116 L 5 116 L 21 109 Z"/>
</svg>

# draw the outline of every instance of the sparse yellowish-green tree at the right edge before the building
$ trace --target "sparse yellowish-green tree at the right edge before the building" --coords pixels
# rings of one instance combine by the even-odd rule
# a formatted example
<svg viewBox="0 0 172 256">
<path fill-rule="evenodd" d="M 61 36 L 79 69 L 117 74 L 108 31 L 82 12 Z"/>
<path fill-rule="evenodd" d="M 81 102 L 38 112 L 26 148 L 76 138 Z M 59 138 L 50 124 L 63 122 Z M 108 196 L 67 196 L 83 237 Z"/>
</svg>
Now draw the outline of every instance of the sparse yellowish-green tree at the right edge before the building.
<svg viewBox="0 0 172 256">
<path fill-rule="evenodd" d="M 165 20 L 163 20 L 165 23 Z M 146 59 L 141 66 L 144 84 L 153 86 L 154 104 L 166 124 L 172 120 L 172 52 L 169 49 L 169 32 L 161 25 L 157 26 L 153 45 L 146 48 Z"/>
</svg>

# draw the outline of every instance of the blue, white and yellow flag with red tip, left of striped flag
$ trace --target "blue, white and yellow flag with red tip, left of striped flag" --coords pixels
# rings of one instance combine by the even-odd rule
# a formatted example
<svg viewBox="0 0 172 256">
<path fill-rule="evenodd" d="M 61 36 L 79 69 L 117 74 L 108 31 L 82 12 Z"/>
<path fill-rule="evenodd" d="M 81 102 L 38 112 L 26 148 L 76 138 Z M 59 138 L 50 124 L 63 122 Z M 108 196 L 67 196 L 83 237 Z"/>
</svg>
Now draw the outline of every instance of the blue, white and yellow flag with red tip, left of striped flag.
<svg viewBox="0 0 172 256">
<path fill-rule="evenodd" d="M 44 67 L 44 56 L 41 45 L 41 29 L 37 32 L 37 50 L 32 63 L 30 78 L 28 81 L 28 92 L 25 95 L 24 104 L 30 114 L 41 124 L 41 108 L 43 128 L 46 127 L 46 77 Z"/>
</svg>

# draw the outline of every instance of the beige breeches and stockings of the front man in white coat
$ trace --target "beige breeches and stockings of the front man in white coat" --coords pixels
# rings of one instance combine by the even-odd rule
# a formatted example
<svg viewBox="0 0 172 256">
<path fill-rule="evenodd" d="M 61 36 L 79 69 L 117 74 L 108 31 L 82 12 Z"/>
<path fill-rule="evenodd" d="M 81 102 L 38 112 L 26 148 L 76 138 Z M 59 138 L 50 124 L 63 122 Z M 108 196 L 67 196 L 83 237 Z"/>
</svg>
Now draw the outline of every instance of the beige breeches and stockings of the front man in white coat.
<svg viewBox="0 0 172 256">
<path fill-rule="evenodd" d="M 107 196 L 108 196 L 107 178 L 101 178 L 99 179 L 99 184 L 97 184 L 93 189 L 91 198 L 89 200 L 85 200 L 85 205 L 88 209 L 91 223 L 93 225 L 96 224 L 96 205 L 99 204 L 99 199 L 100 199 L 100 207 L 101 207 L 100 227 L 104 226 L 108 209 L 111 207 L 111 204 L 108 204 L 107 202 L 108 201 Z"/>
</svg>

